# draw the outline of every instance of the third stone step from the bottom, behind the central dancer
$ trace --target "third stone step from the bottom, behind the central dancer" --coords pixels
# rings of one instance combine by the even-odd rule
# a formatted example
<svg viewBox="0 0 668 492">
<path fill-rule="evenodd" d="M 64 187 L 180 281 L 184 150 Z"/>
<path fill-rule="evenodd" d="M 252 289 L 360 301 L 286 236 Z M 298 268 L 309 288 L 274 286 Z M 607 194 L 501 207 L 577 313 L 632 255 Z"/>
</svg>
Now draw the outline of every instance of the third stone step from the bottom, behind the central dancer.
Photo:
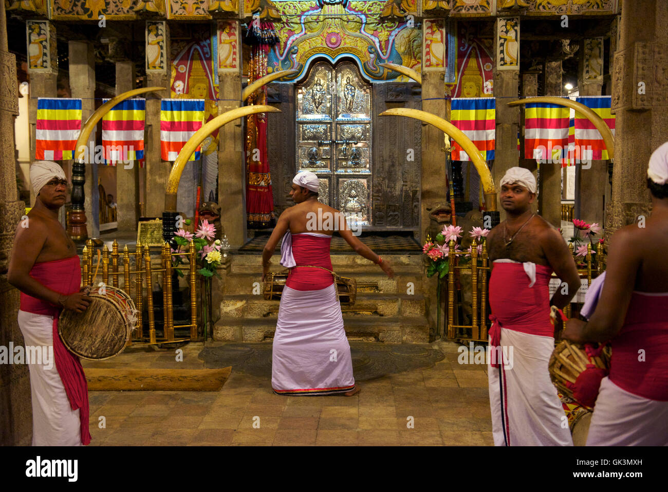
<svg viewBox="0 0 668 492">
<path fill-rule="evenodd" d="M 376 267 L 377 268 L 377 267 Z M 378 293 L 407 293 L 412 290 L 415 293 L 422 291 L 424 276 L 422 271 L 412 269 L 406 273 L 395 270 L 393 279 L 377 268 L 377 272 L 367 273 L 359 270 L 337 270 L 337 274 L 343 277 L 351 277 L 357 281 L 357 292 Z M 250 273 L 226 273 L 225 281 L 222 282 L 223 294 L 248 293 L 253 295 L 253 289 L 259 287 L 262 290 L 262 269 Z M 256 284 L 257 282 L 257 284 Z M 411 285 L 412 283 L 412 285 Z"/>
</svg>

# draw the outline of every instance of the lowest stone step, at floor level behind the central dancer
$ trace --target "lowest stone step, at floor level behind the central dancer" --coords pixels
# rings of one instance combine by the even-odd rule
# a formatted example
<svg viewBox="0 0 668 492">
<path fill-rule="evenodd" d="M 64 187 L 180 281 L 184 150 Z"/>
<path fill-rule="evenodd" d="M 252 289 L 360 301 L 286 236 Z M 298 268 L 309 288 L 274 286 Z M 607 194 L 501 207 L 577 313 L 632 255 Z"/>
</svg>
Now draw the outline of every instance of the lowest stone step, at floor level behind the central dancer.
<svg viewBox="0 0 668 492">
<path fill-rule="evenodd" d="M 360 316 L 343 315 L 348 340 L 389 344 L 424 344 L 429 342 L 429 323 L 423 316 Z M 275 318 L 221 318 L 213 329 L 216 341 L 266 342 L 273 340 Z"/>
</svg>

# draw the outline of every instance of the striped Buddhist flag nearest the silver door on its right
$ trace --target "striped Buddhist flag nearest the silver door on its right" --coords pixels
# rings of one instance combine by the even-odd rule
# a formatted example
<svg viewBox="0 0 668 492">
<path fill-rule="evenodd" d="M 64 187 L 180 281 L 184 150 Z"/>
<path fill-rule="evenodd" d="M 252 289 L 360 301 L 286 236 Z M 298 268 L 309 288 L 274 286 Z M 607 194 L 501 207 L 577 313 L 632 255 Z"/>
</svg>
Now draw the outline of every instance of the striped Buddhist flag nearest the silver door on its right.
<svg viewBox="0 0 668 492">
<path fill-rule="evenodd" d="M 454 98 L 450 120 L 476 145 L 483 160 L 494 159 L 496 100 L 494 98 Z M 460 144 L 452 140 L 452 160 L 471 160 Z"/>
</svg>

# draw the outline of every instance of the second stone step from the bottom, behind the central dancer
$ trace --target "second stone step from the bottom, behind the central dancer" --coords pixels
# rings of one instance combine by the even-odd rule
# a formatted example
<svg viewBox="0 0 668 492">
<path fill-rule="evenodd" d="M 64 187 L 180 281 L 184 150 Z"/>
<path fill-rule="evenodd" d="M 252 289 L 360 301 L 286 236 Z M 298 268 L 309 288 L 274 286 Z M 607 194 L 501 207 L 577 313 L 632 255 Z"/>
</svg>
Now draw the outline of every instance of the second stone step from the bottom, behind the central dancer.
<svg viewBox="0 0 668 492">
<path fill-rule="evenodd" d="M 265 301 L 259 296 L 226 295 L 220 302 L 220 316 L 230 318 L 277 318 L 280 301 Z M 342 304 L 343 316 L 424 316 L 424 295 L 358 293 L 355 303 Z"/>
</svg>

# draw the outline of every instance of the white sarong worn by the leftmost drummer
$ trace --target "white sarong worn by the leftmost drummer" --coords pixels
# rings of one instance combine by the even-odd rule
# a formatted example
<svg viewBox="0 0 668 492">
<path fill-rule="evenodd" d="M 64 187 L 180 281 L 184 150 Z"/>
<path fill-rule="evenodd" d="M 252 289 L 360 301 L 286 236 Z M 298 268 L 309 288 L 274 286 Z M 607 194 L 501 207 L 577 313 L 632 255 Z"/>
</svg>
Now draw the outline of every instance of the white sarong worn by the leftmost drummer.
<svg viewBox="0 0 668 492">
<path fill-rule="evenodd" d="M 51 347 L 53 317 L 19 310 L 19 328 L 26 346 Z M 33 446 L 81 446 L 79 409 L 72 410 L 55 361 L 29 364 L 33 404 Z"/>
</svg>

